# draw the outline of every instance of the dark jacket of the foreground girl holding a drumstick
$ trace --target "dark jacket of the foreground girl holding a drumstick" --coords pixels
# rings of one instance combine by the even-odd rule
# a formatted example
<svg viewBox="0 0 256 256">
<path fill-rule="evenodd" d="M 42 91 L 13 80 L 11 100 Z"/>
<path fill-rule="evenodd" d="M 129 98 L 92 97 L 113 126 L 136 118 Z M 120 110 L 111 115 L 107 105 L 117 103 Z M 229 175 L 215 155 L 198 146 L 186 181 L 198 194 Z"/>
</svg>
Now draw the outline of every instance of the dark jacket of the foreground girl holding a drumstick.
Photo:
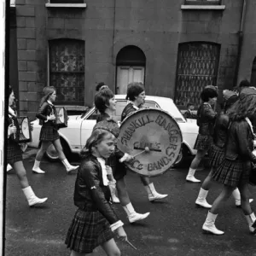
<svg viewBox="0 0 256 256">
<path fill-rule="evenodd" d="M 79 166 L 73 196 L 74 204 L 84 211 L 99 211 L 107 218 L 109 224 L 114 224 L 119 218 L 110 207 L 109 199 L 109 188 L 102 183 L 102 167 L 95 156 L 88 154 Z"/>
</svg>

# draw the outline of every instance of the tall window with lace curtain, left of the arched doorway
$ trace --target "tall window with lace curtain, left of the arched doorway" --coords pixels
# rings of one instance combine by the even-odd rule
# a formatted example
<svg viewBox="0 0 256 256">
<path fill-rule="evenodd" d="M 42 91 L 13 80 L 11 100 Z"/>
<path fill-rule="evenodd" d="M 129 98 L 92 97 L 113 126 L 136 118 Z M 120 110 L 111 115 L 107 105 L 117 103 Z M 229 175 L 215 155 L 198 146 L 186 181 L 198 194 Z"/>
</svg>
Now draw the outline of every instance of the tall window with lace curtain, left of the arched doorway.
<svg viewBox="0 0 256 256">
<path fill-rule="evenodd" d="M 49 85 L 57 90 L 57 104 L 84 105 L 84 41 L 49 41 Z"/>
</svg>

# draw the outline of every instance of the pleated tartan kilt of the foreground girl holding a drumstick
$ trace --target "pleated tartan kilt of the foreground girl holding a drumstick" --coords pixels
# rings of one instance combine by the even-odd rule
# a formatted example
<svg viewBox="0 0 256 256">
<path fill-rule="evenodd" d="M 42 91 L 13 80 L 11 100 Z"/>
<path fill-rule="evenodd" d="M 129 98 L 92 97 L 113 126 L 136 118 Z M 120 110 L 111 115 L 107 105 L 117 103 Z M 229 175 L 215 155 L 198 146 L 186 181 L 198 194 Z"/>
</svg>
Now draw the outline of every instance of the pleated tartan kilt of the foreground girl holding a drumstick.
<svg viewBox="0 0 256 256">
<path fill-rule="evenodd" d="M 92 253 L 96 247 L 112 238 L 113 232 L 101 212 L 78 209 L 67 231 L 65 244 L 77 253 Z"/>
</svg>

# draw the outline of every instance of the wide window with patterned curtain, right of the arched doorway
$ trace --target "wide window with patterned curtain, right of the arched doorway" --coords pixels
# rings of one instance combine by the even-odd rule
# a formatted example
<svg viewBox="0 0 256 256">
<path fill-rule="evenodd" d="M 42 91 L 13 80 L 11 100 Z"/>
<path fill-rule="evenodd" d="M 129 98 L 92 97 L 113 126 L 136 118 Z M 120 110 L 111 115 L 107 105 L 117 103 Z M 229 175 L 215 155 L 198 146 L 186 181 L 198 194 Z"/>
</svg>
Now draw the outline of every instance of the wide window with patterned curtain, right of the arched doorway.
<svg viewBox="0 0 256 256">
<path fill-rule="evenodd" d="M 203 88 L 216 85 L 219 49 L 219 44 L 179 44 L 175 87 L 175 103 L 179 108 L 186 108 L 189 102 L 199 107 Z"/>
</svg>

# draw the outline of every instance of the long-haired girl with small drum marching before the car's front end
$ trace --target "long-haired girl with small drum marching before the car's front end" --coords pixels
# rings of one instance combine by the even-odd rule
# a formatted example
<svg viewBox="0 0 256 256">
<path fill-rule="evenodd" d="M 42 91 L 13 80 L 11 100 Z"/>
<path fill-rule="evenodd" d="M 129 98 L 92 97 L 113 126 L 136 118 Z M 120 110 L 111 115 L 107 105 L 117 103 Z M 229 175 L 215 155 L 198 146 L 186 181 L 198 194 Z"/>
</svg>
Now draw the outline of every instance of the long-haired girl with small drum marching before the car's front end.
<svg viewBox="0 0 256 256">
<path fill-rule="evenodd" d="M 32 171 L 37 173 L 45 173 L 39 167 L 40 162 L 44 156 L 45 151 L 49 147 L 49 144 L 53 143 L 56 151 L 59 154 L 59 158 L 61 159 L 61 162 L 66 167 L 67 172 L 71 172 L 77 169 L 79 166 L 70 165 L 61 147 L 58 128 L 55 126 L 55 105 L 53 104 L 56 98 L 55 87 L 46 86 L 44 87 L 43 91 L 44 91 L 44 97 L 41 100 L 38 113 L 36 114 L 36 117 L 39 119 L 39 123 L 40 122 L 43 123 L 40 131 L 40 137 L 39 137 L 39 140 L 42 143 L 41 143 L 41 148 L 38 150 L 38 154 L 36 156 L 36 160 L 32 168 Z"/>
</svg>

